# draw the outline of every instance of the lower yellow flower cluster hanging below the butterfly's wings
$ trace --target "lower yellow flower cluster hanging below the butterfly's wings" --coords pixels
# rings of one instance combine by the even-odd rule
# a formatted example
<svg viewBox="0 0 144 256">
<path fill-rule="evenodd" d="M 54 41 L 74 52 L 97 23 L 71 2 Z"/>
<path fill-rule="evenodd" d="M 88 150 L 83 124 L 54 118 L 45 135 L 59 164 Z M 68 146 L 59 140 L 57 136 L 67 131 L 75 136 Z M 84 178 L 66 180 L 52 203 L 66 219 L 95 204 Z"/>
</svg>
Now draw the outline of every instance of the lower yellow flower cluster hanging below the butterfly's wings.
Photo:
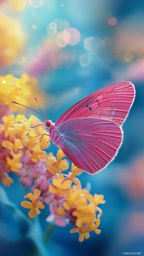
<svg viewBox="0 0 144 256">
<path fill-rule="evenodd" d="M 80 173 L 82 170 L 72 164 L 71 171 L 69 176 L 66 176 L 67 178 L 64 178 L 64 174 L 54 177 L 52 184 L 49 185 L 49 191 L 52 194 L 57 194 L 64 198 L 62 204 L 63 211 L 68 212 L 72 210 L 71 214 L 75 219 L 76 228 L 73 228 L 70 232 L 78 232 L 79 241 L 83 242 L 84 239 L 90 237 L 90 231 L 100 234 L 101 231 L 98 230 L 97 227 L 100 224 L 102 210 L 97 206 L 104 204 L 105 200 L 103 195 L 94 194 L 93 197 L 87 190 L 82 189 L 79 180 L 77 185 L 72 185 L 72 181 L 75 180 L 71 180 L 71 176 L 74 175 L 74 173 L 75 175 Z M 96 214 L 97 212 L 98 214 Z"/>
</svg>

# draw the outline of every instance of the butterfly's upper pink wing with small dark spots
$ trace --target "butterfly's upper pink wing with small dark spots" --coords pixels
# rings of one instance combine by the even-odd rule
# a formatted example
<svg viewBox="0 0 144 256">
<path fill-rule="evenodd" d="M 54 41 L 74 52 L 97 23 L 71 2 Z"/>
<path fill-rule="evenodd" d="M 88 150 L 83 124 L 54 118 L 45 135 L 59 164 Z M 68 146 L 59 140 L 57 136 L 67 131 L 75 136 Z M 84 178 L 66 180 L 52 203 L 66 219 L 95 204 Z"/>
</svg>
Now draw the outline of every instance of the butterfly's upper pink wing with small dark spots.
<svg viewBox="0 0 144 256">
<path fill-rule="evenodd" d="M 135 99 L 135 87 L 130 82 L 114 83 L 86 96 L 68 109 L 55 123 L 61 123 L 79 117 L 107 119 L 123 124 Z"/>
</svg>

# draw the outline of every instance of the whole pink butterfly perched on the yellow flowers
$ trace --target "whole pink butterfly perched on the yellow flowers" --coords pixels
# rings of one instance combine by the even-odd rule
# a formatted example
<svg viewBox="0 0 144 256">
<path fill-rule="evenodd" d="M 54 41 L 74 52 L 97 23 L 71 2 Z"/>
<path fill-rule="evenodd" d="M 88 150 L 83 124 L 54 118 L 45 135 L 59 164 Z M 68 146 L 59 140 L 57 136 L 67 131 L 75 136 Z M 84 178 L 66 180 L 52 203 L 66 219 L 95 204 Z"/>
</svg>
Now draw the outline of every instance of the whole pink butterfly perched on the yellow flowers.
<svg viewBox="0 0 144 256">
<path fill-rule="evenodd" d="M 122 124 L 134 99 L 132 83 L 114 83 L 77 102 L 55 124 L 47 117 L 45 126 L 53 143 L 77 167 L 94 174 L 106 168 L 118 153 Z"/>
</svg>

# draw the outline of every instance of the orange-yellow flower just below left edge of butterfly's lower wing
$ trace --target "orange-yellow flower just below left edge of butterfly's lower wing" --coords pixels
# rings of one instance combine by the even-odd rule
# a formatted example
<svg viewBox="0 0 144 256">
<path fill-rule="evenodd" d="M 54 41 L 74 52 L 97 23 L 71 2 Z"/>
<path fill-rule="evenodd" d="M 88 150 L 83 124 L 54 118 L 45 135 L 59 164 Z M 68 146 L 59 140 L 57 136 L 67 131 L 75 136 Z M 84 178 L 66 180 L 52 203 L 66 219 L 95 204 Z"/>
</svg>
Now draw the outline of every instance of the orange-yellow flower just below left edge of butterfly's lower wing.
<svg viewBox="0 0 144 256">
<path fill-rule="evenodd" d="M 64 152 L 59 149 L 57 152 L 57 160 L 54 156 L 48 156 L 45 167 L 48 171 L 50 171 L 50 173 L 54 175 L 61 173 L 61 171 L 68 169 L 66 159 L 62 160 L 62 158 L 64 158 Z"/>
</svg>

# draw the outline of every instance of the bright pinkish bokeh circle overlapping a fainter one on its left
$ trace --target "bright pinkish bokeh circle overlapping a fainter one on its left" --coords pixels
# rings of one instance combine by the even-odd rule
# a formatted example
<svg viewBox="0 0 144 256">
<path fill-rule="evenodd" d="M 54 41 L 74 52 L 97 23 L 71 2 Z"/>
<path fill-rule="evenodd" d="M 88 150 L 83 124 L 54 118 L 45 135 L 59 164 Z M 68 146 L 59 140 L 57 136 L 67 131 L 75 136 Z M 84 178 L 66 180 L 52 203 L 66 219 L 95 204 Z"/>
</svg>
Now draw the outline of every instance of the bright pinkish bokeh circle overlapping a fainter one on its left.
<svg viewBox="0 0 144 256">
<path fill-rule="evenodd" d="M 76 45 L 80 41 L 80 32 L 76 28 L 68 28 L 64 31 L 63 39 L 67 45 Z"/>
</svg>

